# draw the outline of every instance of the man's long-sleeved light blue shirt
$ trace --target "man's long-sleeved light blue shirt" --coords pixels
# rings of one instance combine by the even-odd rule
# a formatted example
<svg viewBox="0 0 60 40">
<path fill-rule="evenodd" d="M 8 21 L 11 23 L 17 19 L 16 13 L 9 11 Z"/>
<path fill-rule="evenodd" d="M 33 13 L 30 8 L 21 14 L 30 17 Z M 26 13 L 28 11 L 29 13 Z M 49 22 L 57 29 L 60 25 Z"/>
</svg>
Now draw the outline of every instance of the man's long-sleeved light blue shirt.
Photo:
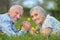
<svg viewBox="0 0 60 40">
<path fill-rule="evenodd" d="M 6 35 L 11 36 L 11 35 L 22 35 L 23 33 L 26 33 L 25 30 L 16 30 L 14 27 L 14 23 L 8 16 L 8 13 L 5 14 L 0 14 L 0 30 L 4 32 Z"/>
</svg>

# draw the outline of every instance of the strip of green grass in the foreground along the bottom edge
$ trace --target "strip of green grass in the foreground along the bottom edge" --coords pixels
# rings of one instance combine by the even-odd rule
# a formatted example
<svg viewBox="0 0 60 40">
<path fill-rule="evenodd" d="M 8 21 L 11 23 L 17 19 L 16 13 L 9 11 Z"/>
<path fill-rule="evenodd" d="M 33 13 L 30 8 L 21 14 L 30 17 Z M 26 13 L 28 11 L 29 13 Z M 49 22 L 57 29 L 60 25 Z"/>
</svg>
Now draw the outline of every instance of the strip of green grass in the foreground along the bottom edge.
<svg viewBox="0 0 60 40">
<path fill-rule="evenodd" d="M 0 40 L 60 40 L 60 36 L 42 36 L 37 34 L 36 36 L 30 33 L 23 34 L 21 36 L 11 36 L 0 35 Z"/>
</svg>

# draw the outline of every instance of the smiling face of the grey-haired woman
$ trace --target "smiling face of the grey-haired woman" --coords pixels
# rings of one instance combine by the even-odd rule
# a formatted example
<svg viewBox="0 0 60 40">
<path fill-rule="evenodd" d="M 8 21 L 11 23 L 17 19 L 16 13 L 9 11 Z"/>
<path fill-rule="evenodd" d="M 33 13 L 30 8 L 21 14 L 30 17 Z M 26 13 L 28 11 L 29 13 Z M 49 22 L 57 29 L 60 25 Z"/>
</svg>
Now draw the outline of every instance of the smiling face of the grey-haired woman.
<svg viewBox="0 0 60 40">
<path fill-rule="evenodd" d="M 44 19 L 45 19 L 45 16 L 39 12 L 38 10 L 33 10 L 31 13 L 30 13 L 31 17 L 32 17 L 32 20 L 36 23 L 36 24 L 42 24 Z"/>
</svg>

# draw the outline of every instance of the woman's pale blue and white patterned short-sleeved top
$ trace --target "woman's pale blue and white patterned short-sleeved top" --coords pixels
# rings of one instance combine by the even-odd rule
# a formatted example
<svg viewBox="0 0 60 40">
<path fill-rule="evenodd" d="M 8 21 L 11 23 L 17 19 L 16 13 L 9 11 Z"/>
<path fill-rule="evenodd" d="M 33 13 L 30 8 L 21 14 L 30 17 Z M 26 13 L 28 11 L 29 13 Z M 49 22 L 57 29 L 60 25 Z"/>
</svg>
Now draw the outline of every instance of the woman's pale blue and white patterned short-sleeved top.
<svg viewBox="0 0 60 40">
<path fill-rule="evenodd" d="M 43 25 L 42 30 L 50 27 L 52 29 L 51 34 L 56 33 L 56 35 L 60 35 L 60 22 L 55 19 L 53 16 L 47 15 Z"/>
</svg>

